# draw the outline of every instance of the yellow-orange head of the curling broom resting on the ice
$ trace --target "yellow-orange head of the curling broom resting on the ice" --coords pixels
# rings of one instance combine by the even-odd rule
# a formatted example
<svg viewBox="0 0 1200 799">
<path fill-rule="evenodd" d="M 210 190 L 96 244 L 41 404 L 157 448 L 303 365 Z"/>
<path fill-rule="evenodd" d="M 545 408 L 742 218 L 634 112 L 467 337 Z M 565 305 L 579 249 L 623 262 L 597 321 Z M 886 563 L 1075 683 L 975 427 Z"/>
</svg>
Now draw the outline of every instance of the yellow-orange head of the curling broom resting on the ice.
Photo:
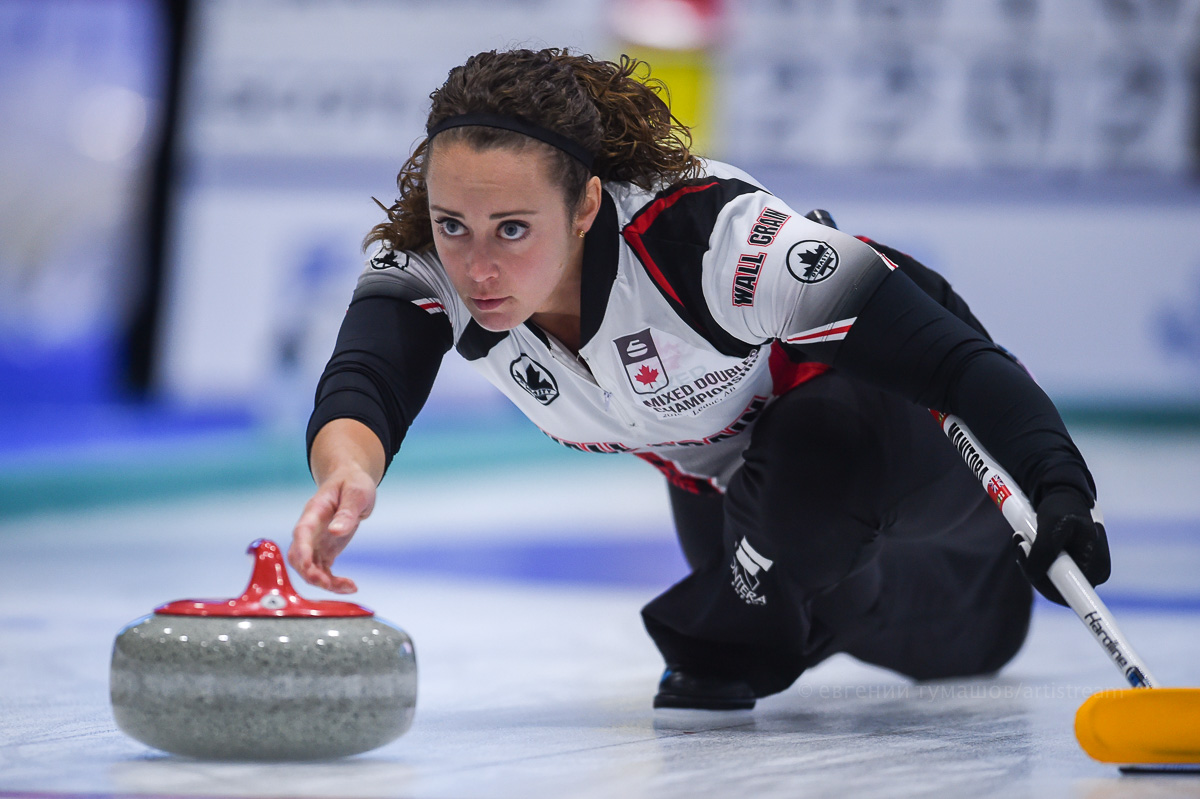
<svg viewBox="0 0 1200 799">
<path fill-rule="evenodd" d="M 1093 693 L 1075 714 L 1075 738 L 1104 763 L 1200 763 L 1200 689 Z"/>
</svg>

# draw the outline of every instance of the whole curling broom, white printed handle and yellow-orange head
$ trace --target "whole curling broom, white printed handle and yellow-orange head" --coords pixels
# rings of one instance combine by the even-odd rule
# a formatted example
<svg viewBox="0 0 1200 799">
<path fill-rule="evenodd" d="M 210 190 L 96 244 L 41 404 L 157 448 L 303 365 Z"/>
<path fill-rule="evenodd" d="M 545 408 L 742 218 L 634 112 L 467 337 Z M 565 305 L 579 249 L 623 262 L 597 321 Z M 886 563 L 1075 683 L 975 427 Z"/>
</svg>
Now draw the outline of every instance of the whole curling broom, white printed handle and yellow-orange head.
<svg viewBox="0 0 1200 799">
<path fill-rule="evenodd" d="M 1037 513 L 1016 482 L 979 444 L 961 419 L 931 411 L 988 495 L 1020 536 L 1028 554 L 1037 536 Z M 1103 523 L 1099 509 L 1092 518 Z M 1050 566 L 1050 582 L 1079 615 L 1132 689 L 1093 693 L 1075 714 L 1075 738 L 1084 751 L 1122 770 L 1200 768 L 1200 689 L 1158 687 L 1150 669 L 1126 641 L 1111 612 L 1066 552 Z"/>
</svg>

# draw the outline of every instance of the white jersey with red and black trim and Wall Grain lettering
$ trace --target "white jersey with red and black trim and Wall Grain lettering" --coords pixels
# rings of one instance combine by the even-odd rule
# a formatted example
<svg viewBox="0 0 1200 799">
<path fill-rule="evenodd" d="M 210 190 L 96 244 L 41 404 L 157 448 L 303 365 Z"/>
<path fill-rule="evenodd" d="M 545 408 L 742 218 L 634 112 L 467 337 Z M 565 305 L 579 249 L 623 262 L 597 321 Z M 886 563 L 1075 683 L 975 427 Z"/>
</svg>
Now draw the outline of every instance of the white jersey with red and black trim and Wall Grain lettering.
<svg viewBox="0 0 1200 799">
<path fill-rule="evenodd" d="M 745 173 L 706 167 L 658 193 L 604 186 L 584 241 L 578 356 L 533 323 L 478 325 L 432 251 L 380 251 L 355 299 L 444 316 L 458 353 L 554 440 L 724 491 L 755 420 L 826 368 L 894 266 Z"/>
</svg>

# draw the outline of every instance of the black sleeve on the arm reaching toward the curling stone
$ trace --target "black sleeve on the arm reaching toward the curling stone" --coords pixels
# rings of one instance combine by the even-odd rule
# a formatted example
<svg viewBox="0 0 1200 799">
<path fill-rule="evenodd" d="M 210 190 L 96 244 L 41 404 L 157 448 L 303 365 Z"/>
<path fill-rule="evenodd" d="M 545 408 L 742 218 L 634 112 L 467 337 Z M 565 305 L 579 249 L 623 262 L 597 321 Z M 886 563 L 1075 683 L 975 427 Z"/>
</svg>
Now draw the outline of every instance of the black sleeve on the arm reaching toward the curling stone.
<svg viewBox="0 0 1200 799">
<path fill-rule="evenodd" d="M 310 458 L 322 427 L 335 419 L 354 419 L 379 437 L 390 465 L 430 396 L 452 338 L 445 314 L 430 314 L 407 300 L 353 301 L 317 383 L 308 419 Z"/>
</svg>

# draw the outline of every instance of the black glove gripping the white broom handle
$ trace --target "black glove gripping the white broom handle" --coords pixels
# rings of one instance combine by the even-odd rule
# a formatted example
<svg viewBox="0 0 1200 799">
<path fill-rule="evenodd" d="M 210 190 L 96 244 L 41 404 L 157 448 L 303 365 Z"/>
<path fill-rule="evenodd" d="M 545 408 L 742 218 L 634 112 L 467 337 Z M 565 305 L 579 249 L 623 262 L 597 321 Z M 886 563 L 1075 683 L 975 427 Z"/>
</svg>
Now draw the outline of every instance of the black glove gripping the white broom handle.
<svg viewBox="0 0 1200 799">
<path fill-rule="evenodd" d="M 1014 539 L 1014 540 L 1020 540 Z M 1092 521 L 1092 500 L 1074 488 L 1058 488 L 1042 498 L 1038 505 L 1038 535 L 1028 557 L 1016 548 L 1016 559 L 1033 588 L 1051 602 L 1066 605 L 1062 594 L 1050 582 L 1046 570 L 1066 551 L 1092 585 L 1109 578 L 1109 540 L 1104 525 Z"/>
</svg>

